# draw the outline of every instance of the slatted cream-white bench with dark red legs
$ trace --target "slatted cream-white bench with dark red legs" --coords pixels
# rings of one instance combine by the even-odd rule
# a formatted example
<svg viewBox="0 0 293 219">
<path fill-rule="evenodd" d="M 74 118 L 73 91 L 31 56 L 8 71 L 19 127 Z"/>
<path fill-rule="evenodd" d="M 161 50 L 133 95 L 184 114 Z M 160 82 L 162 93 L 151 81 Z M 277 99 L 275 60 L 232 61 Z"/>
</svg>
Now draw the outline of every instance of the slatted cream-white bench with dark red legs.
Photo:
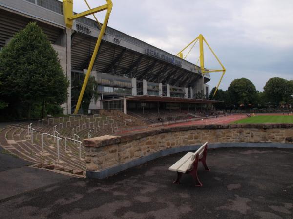
<svg viewBox="0 0 293 219">
<path fill-rule="evenodd" d="M 180 179 L 183 173 L 190 174 L 193 179 L 197 182 L 196 186 L 203 186 L 197 176 L 197 167 L 198 162 L 201 161 L 205 170 L 209 171 L 209 168 L 206 164 L 208 152 L 208 142 L 203 144 L 200 148 L 197 149 L 194 153 L 188 152 L 184 155 L 179 161 L 169 167 L 169 170 L 177 172 L 177 179 L 173 182 L 180 184 Z"/>
</svg>

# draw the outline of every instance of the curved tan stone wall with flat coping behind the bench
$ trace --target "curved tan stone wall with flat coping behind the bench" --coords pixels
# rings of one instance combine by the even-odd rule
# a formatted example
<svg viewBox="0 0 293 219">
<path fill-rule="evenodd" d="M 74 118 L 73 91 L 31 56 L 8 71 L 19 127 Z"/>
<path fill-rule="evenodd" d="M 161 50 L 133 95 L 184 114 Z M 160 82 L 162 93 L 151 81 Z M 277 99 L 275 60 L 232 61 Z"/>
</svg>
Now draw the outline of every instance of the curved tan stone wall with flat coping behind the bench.
<svg viewBox="0 0 293 219">
<path fill-rule="evenodd" d="M 146 160 L 145 157 L 160 151 L 178 151 L 170 150 L 173 148 L 197 146 L 206 141 L 216 144 L 292 143 L 292 136 L 293 124 L 201 125 L 158 127 L 121 136 L 101 136 L 85 139 L 83 145 L 87 175 L 101 178 L 140 164 L 139 160 Z M 117 168 L 119 166 L 123 168 Z"/>
</svg>

